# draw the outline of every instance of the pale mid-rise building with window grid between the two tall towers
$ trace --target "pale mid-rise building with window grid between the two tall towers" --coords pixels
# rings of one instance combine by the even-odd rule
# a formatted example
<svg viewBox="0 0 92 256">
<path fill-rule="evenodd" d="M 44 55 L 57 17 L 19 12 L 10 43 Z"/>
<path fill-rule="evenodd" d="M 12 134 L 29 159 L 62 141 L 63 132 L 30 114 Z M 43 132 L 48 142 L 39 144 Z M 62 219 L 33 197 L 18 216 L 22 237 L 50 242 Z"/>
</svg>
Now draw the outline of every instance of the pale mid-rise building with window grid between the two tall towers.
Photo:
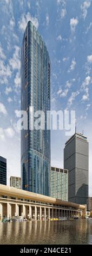
<svg viewBox="0 0 92 256">
<path fill-rule="evenodd" d="M 50 196 L 68 201 L 68 170 L 51 167 Z"/>
</svg>

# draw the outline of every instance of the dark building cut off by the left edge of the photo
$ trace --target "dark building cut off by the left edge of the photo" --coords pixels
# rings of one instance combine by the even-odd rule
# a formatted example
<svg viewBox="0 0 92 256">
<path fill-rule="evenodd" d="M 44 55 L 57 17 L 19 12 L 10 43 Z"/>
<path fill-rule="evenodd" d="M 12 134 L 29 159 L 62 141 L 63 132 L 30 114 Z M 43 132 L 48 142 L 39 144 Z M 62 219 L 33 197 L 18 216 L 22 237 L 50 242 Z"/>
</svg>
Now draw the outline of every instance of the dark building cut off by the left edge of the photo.
<svg viewBox="0 0 92 256">
<path fill-rule="evenodd" d="M 0 156 L 0 184 L 6 185 L 6 159 Z"/>
</svg>

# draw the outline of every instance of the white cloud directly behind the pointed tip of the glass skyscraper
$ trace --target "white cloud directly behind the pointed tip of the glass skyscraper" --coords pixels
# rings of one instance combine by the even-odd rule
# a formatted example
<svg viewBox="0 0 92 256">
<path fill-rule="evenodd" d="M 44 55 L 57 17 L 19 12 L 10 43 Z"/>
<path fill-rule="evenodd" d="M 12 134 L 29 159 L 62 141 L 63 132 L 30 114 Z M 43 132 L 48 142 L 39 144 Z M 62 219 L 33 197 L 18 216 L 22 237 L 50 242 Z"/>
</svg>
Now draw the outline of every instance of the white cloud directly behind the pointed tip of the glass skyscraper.
<svg viewBox="0 0 92 256">
<path fill-rule="evenodd" d="M 20 20 L 18 21 L 18 28 L 21 29 L 22 32 L 25 31 L 28 21 L 31 21 L 33 25 L 38 28 L 38 19 L 36 17 L 32 17 L 30 13 L 27 13 L 27 15 L 22 14 Z"/>
</svg>

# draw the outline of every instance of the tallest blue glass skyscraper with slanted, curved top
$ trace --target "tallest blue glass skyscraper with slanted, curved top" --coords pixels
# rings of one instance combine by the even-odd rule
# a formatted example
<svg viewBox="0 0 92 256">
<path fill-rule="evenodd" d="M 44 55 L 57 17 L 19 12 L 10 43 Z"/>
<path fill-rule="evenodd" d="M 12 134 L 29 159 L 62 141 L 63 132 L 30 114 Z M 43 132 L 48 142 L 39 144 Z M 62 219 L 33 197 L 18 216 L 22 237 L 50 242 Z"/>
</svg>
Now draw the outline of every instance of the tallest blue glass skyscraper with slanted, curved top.
<svg viewBox="0 0 92 256">
<path fill-rule="evenodd" d="M 44 111 L 44 130 L 30 130 L 30 106 L 34 107 L 34 112 Z M 22 42 L 21 110 L 28 113 L 28 130 L 21 131 L 22 189 L 49 196 L 50 130 L 47 130 L 47 111 L 50 111 L 50 58 L 41 35 L 31 21 Z"/>
</svg>

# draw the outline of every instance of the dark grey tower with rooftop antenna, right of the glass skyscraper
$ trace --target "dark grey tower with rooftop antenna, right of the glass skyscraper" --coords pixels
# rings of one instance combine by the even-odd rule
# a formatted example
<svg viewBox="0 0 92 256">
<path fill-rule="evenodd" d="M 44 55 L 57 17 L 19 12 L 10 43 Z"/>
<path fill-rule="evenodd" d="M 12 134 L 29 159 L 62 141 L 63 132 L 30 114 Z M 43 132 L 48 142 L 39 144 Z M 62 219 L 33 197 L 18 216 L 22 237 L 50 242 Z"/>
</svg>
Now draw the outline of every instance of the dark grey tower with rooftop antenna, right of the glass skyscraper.
<svg viewBox="0 0 92 256">
<path fill-rule="evenodd" d="M 89 146 L 87 137 L 75 134 L 65 143 L 64 168 L 68 169 L 68 197 L 70 202 L 87 204 Z"/>
</svg>

